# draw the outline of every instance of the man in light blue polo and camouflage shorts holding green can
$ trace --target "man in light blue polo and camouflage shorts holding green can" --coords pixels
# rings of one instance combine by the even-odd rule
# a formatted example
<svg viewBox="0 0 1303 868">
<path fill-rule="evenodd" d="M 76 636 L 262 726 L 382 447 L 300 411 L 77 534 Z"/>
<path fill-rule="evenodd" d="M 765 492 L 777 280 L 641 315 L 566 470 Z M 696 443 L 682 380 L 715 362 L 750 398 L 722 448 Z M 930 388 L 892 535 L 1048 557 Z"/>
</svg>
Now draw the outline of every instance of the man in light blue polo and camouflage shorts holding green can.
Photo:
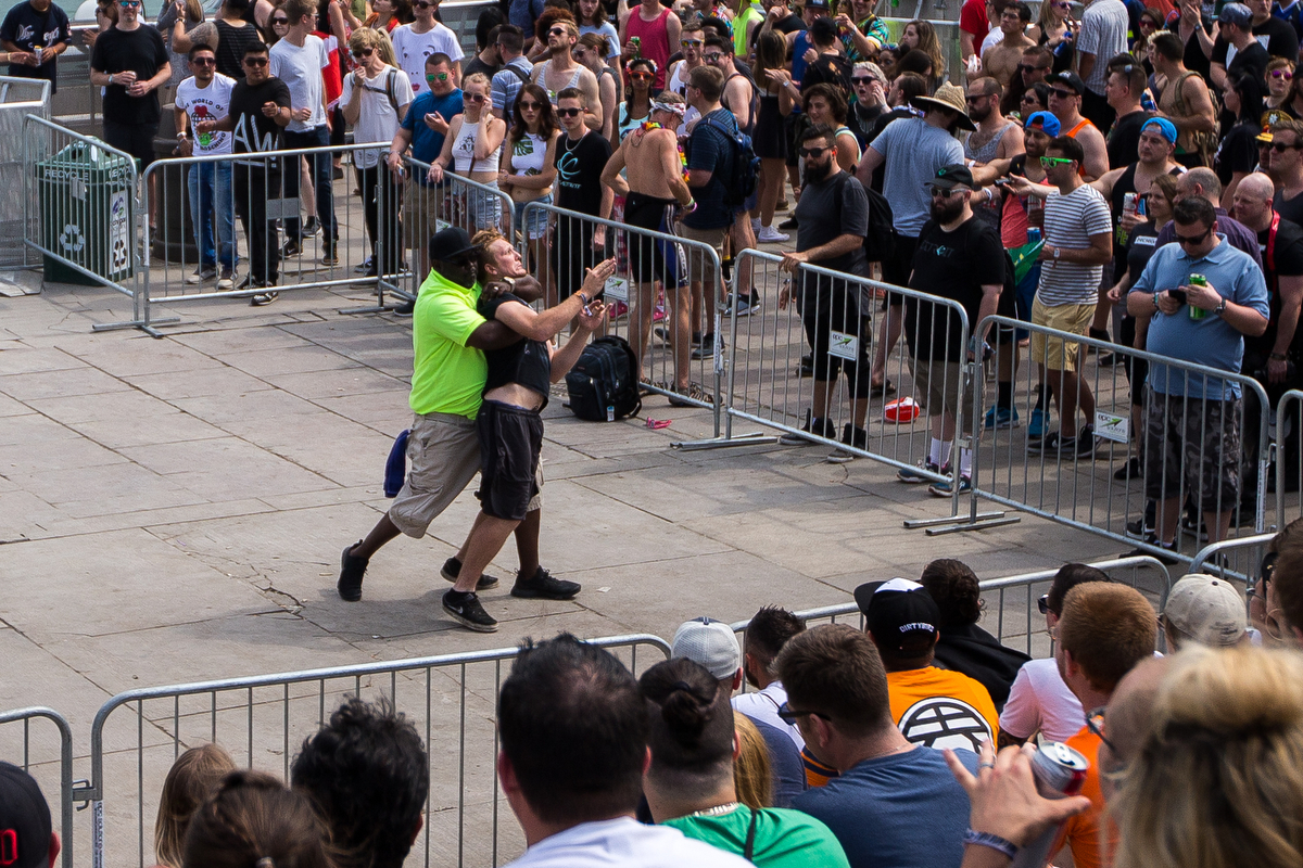
<svg viewBox="0 0 1303 868">
<path fill-rule="evenodd" d="M 1270 315 L 1263 271 L 1218 234 L 1203 197 L 1177 203 L 1174 228 L 1177 243 L 1154 252 L 1127 295 L 1127 312 L 1140 320 L 1138 329 L 1151 320 L 1151 353 L 1239 373 L 1244 336 L 1265 332 Z M 1145 496 L 1158 502 L 1158 523 L 1147 541 L 1174 548 L 1183 480 L 1209 543 L 1226 539 L 1239 506 L 1239 384 L 1157 363 L 1148 384 Z"/>
</svg>

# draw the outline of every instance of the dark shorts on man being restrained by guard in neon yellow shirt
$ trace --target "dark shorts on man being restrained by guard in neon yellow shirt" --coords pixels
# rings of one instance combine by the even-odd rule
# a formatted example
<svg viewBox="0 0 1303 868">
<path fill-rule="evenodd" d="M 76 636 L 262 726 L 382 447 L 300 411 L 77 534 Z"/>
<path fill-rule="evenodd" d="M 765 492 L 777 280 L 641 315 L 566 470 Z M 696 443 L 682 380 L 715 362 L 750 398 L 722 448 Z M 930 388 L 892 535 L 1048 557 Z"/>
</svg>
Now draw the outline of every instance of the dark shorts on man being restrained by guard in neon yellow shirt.
<svg viewBox="0 0 1303 868">
<path fill-rule="evenodd" d="M 536 471 L 543 449 L 543 418 L 537 410 L 485 401 L 476 416 L 480 439 L 480 508 L 506 522 L 525 521 L 538 493 Z"/>
</svg>

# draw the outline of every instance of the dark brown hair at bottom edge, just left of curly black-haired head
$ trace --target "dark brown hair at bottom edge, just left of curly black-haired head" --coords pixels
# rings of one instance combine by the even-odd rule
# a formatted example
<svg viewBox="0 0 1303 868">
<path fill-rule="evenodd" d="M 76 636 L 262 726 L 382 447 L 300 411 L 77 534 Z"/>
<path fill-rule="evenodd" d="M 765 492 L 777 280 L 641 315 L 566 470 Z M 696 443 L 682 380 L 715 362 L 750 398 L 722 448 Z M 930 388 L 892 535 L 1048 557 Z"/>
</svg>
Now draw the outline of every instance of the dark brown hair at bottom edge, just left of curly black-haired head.
<svg viewBox="0 0 1303 868">
<path fill-rule="evenodd" d="M 185 868 L 332 868 L 308 798 L 266 772 L 232 772 L 190 820 Z"/>
</svg>

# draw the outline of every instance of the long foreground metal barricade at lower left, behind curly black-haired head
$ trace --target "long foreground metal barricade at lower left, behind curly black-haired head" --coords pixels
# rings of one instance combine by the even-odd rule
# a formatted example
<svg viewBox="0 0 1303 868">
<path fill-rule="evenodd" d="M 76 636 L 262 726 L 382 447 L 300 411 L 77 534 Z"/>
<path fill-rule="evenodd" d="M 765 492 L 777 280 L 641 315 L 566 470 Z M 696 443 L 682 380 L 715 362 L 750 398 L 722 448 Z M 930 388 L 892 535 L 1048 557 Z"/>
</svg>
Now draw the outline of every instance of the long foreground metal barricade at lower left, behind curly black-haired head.
<svg viewBox="0 0 1303 868">
<path fill-rule="evenodd" d="M 670 645 L 649 634 L 592 644 L 619 656 L 635 674 L 670 656 Z M 159 794 L 182 751 L 216 742 L 237 764 L 288 781 L 300 746 L 348 695 L 387 698 L 422 735 L 430 795 L 423 845 L 417 846 L 425 852 L 408 864 L 496 865 L 515 858 L 524 839 L 515 824 L 499 822 L 509 811 L 495 774 L 495 721 L 504 665 L 517 653 L 499 648 L 119 694 L 95 714 L 91 783 L 77 791 L 91 802 L 94 868 L 154 864 Z M 439 733 L 456 738 L 440 739 Z"/>
</svg>

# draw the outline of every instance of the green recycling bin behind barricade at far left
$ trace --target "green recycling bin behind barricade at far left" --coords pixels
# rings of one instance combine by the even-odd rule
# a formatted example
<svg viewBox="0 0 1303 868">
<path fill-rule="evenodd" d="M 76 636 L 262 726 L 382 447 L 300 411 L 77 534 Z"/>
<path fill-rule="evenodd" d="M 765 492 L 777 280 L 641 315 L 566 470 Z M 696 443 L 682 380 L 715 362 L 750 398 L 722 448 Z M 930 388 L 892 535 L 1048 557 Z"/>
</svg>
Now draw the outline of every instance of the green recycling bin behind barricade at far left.
<svg viewBox="0 0 1303 868">
<path fill-rule="evenodd" d="M 134 273 L 132 161 L 90 142 L 73 142 L 36 163 L 40 238 L 47 250 L 113 282 Z M 96 281 L 44 256 L 44 277 L 95 286 Z"/>
</svg>

